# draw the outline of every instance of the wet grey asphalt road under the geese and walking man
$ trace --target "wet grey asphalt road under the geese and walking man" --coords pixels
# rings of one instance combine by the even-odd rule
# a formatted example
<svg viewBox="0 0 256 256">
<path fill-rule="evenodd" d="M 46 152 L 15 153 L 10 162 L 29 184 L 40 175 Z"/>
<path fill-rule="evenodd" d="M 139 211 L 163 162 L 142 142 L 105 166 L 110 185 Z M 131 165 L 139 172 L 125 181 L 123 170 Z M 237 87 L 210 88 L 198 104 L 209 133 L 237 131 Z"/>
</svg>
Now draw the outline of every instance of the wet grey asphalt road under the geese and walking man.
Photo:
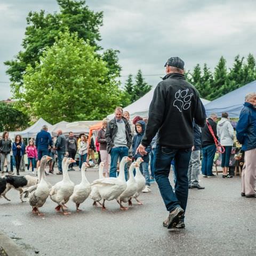
<svg viewBox="0 0 256 256">
<path fill-rule="evenodd" d="M 80 182 L 78 171 L 69 174 Z M 97 175 L 95 169 L 86 172 L 90 181 Z M 61 176 L 47 179 L 54 184 Z M 68 202 L 71 214 L 63 215 L 48 198 L 44 217 L 31 213 L 28 202 L 21 203 L 18 191 L 11 190 L 11 202 L 0 199 L 0 229 L 28 255 L 255 255 L 256 199 L 240 196 L 239 177 L 200 179 L 205 189 L 189 190 L 182 230 L 162 226 L 167 212 L 156 183 L 141 195 L 143 205 L 134 203 L 127 211 L 111 201 L 102 212 L 87 199 L 82 212 Z"/>
</svg>

